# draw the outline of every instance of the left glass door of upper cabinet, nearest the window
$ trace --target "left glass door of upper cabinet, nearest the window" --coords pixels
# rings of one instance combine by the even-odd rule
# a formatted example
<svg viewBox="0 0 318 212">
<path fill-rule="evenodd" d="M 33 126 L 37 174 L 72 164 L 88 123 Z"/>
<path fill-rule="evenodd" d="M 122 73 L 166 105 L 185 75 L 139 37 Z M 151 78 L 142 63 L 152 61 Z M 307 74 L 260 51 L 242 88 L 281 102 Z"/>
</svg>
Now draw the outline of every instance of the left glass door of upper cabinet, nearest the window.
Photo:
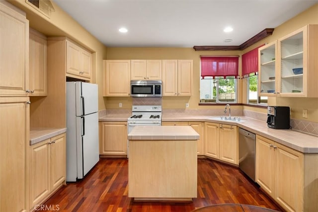
<svg viewBox="0 0 318 212">
<path fill-rule="evenodd" d="M 276 56 L 277 41 L 258 49 L 259 96 L 276 94 Z"/>
</svg>

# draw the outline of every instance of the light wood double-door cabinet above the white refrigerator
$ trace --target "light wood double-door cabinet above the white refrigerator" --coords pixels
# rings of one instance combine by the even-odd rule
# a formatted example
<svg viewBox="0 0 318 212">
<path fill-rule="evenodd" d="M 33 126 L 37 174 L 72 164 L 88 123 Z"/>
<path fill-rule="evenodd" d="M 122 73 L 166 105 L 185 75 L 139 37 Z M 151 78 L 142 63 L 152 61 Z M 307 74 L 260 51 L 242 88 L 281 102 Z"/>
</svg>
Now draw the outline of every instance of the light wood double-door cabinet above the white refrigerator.
<svg viewBox="0 0 318 212">
<path fill-rule="evenodd" d="M 66 76 L 89 81 L 92 70 L 91 52 L 85 50 L 70 40 L 66 41 L 66 45 Z"/>
</svg>

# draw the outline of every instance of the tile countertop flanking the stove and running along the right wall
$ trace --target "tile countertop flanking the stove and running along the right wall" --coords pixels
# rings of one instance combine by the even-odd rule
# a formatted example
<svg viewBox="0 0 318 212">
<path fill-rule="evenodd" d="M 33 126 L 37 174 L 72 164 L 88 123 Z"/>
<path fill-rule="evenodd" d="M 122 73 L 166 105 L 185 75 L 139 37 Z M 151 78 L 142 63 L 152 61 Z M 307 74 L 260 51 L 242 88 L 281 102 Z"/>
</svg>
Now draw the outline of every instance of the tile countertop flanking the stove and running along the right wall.
<svg viewBox="0 0 318 212">
<path fill-rule="evenodd" d="M 216 116 L 183 116 L 183 115 L 169 115 L 168 117 L 162 115 L 162 121 L 207 121 L 223 124 L 237 125 L 252 133 L 264 136 L 275 142 L 283 144 L 287 147 L 295 149 L 302 153 L 318 153 L 318 137 L 309 135 L 296 130 L 290 129 L 271 129 L 267 127 L 265 121 L 256 120 L 246 116 L 240 116 L 241 121 L 229 121 L 214 119 Z M 128 116 L 108 115 L 99 118 L 99 121 L 127 121 Z"/>
</svg>

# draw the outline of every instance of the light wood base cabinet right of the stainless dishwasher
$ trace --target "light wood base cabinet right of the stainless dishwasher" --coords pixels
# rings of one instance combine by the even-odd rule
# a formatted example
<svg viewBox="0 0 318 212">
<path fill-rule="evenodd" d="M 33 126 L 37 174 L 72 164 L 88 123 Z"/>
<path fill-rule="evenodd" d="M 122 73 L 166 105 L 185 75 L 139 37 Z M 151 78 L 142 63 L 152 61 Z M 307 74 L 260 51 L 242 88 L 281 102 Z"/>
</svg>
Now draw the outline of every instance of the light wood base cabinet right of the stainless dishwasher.
<svg viewBox="0 0 318 212">
<path fill-rule="evenodd" d="M 318 209 L 318 154 L 303 154 L 256 135 L 256 182 L 289 212 Z"/>
</svg>

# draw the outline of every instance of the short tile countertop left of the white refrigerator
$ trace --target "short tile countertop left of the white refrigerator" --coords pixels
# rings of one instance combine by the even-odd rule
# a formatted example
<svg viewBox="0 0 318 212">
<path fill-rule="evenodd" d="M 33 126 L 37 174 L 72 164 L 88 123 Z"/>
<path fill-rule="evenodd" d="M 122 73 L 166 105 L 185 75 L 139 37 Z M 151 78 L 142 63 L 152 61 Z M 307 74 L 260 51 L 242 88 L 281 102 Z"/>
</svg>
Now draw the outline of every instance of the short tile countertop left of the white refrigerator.
<svg viewBox="0 0 318 212">
<path fill-rule="evenodd" d="M 31 128 L 30 145 L 66 132 L 66 128 Z"/>
</svg>

